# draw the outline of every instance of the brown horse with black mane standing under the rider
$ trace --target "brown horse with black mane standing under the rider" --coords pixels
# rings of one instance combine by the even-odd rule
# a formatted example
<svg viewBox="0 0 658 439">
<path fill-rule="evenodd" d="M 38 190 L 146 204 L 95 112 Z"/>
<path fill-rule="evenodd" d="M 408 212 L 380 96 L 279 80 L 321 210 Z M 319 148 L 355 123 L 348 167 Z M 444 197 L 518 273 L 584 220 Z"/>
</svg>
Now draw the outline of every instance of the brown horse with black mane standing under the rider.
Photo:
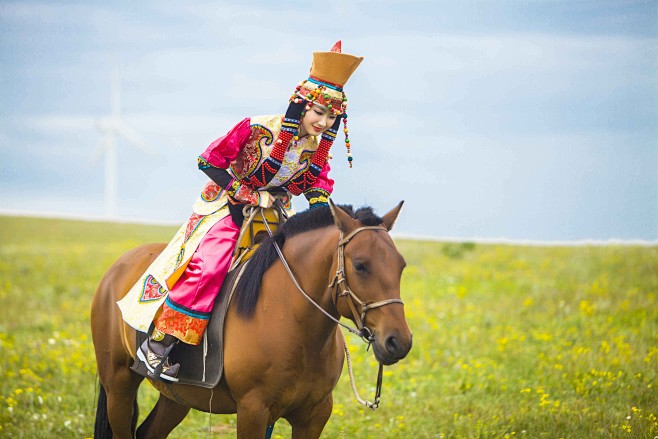
<svg viewBox="0 0 658 439">
<path fill-rule="evenodd" d="M 166 437 L 190 408 L 237 413 L 239 438 L 263 438 L 279 418 L 291 424 L 293 438 L 319 437 L 343 367 L 342 334 L 336 321 L 300 293 L 276 245 L 308 296 L 335 319 L 363 320 L 377 360 L 393 364 L 411 349 L 400 300 L 405 262 L 388 234 L 401 207 L 380 218 L 370 208 L 352 212 L 331 203 L 292 216 L 261 244 L 237 286 L 224 327 L 219 384 L 205 389 L 152 381 L 160 398 L 137 429 L 143 377 L 130 369 L 135 331 L 115 302 L 165 245 L 148 244 L 121 256 L 103 277 L 91 309 L 101 382 L 96 437 Z M 355 308 L 362 312 L 354 313 Z"/>
</svg>

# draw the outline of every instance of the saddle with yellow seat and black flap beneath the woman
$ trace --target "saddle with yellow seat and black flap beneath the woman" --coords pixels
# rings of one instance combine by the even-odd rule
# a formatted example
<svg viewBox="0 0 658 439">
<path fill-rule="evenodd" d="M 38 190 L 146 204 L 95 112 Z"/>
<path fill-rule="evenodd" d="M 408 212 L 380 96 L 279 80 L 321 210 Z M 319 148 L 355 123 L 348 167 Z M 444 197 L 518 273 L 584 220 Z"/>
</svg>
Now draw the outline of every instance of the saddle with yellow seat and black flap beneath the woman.
<svg viewBox="0 0 658 439">
<path fill-rule="evenodd" d="M 231 268 L 215 299 L 210 321 L 203 334 L 203 341 L 198 346 L 178 343 L 169 354 L 171 363 L 181 365 L 178 374 L 179 384 L 190 384 L 208 389 L 219 384 L 224 373 L 224 321 L 235 293 L 235 286 L 260 242 L 269 236 L 268 226 L 274 233 L 286 219 L 287 215 L 279 208 L 245 208 L 245 222 L 238 236 Z M 141 346 L 152 331 L 152 324 L 148 333 L 136 331 L 136 346 Z M 131 369 L 140 375 L 147 376 L 146 366 L 139 360 L 134 362 Z"/>
</svg>

